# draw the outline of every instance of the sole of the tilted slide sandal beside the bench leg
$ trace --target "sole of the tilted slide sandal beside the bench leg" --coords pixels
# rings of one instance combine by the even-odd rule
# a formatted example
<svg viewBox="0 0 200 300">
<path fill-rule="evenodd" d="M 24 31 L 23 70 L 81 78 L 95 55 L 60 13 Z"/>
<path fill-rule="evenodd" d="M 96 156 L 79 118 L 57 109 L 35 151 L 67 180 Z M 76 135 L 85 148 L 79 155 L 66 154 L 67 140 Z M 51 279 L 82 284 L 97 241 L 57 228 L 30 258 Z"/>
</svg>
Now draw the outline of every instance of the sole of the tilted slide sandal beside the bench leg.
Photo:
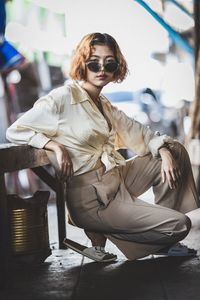
<svg viewBox="0 0 200 300">
<path fill-rule="evenodd" d="M 90 258 L 94 261 L 97 261 L 97 262 L 101 262 L 101 263 L 112 262 L 112 261 L 115 261 L 117 259 L 117 257 L 116 258 L 108 258 L 108 259 L 98 259 L 98 258 L 84 252 L 84 250 L 88 249 L 88 247 L 83 246 L 83 245 L 81 245 L 77 242 L 74 242 L 74 241 L 70 240 L 70 239 L 64 239 L 63 244 L 65 246 L 67 246 L 68 248 L 74 250 L 75 252 L 78 252 L 79 254 L 82 254 L 83 256 L 86 256 L 86 257 L 88 257 L 88 258 Z"/>
</svg>

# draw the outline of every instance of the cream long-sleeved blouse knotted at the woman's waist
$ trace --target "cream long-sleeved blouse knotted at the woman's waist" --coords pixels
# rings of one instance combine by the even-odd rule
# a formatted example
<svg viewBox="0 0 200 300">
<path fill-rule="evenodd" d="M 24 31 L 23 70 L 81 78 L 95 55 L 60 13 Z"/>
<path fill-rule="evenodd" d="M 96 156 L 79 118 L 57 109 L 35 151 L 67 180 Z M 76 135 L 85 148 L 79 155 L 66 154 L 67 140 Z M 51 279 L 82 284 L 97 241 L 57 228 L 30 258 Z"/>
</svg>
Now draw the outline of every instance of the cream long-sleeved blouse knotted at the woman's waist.
<svg viewBox="0 0 200 300">
<path fill-rule="evenodd" d="M 52 90 L 37 100 L 7 129 L 7 139 L 16 144 L 43 148 L 52 140 L 63 144 L 72 159 L 74 175 L 92 170 L 100 159 L 106 171 L 125 164 L 116 151 L 128 148 L 138 155 L 151 152 L 169 142 L 148 127 L 131 119 L 100 95 L 111 129 L 87 92 L 76 82 Z"/>
</svg>

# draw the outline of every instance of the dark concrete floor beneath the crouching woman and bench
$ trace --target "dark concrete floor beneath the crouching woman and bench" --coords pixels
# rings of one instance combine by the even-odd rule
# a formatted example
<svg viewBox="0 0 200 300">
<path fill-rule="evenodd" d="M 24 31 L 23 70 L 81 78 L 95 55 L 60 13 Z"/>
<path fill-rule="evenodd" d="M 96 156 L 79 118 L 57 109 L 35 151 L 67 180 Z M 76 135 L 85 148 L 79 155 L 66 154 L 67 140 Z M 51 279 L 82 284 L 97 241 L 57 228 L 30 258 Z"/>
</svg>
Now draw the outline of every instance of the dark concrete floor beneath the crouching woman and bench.
<svg viewBox="0 0 200 300">
<path fill-rule="evenodd" d="M 52 255 L 41 265 L 16 265 L 0 300 L 199 300 L 200 260 L 148 257 L 109 264 L 92 262 L 72 250 L 58 250 L 55 204 L 48 206 Z M 81 229 L 67 225 L 68 237 L 88 245 Z M 196 236 L 197 237 L 197 236 Z M 199 237 L 199 235 L 198 235 Z"/>
</svg>

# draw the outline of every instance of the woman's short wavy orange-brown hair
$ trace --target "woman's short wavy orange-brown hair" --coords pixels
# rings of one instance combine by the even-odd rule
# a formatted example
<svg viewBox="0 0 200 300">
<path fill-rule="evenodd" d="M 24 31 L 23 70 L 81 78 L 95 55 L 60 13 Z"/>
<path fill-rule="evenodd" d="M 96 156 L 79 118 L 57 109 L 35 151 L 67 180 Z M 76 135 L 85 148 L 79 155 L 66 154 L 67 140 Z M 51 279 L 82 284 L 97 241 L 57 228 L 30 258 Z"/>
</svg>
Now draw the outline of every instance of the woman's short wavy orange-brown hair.
<svg viewBox="0 0 200 300">
<path fill-rule="evenodd" d="M 116 40 L 107 33 L 99 32 L 88 34 L 80 41 L 71 60 L 69 76 L 74 80 L 86 80 L 86 62 L 91 56 L 92 47 L 95 45 L 106 45 L 112 50 L 116 61 L 119 63 L 113 81 L 122 82 L 128 73 L 126 60 Z"/>
</svg>

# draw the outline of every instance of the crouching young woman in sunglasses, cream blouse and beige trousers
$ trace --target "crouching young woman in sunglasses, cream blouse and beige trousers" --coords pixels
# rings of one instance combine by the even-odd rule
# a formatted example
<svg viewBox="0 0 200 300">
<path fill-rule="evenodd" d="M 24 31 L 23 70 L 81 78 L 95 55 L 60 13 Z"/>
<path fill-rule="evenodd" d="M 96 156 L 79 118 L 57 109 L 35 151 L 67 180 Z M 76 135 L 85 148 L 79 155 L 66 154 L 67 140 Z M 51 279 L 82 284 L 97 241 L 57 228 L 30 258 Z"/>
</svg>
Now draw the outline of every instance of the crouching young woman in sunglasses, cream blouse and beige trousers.
<svg viewBox="0 0 200 300">
<path fill-rule="evenodd" d="M 130 119 L 101 94 L 126 75 L 113 37 L 85 36 L 71 63 L 74 81 L 41 97 L 8 128 L 7 138 L 51 150 L 67 182 L 72 222 L 86 230 L 93 246 L 104 246 L 106 235 L 128 259 L 136 259 L 182 240 L 191 228 L 185 213 L 197 209 L 199 200 L 184 147 Z M 125 161 L 120 148 L 137 156 Z M 138 198 L 150 187 L 156 205 Z M 91 247 L 85 255 L 96 259 L 95 251 Z"/>
</svg>

